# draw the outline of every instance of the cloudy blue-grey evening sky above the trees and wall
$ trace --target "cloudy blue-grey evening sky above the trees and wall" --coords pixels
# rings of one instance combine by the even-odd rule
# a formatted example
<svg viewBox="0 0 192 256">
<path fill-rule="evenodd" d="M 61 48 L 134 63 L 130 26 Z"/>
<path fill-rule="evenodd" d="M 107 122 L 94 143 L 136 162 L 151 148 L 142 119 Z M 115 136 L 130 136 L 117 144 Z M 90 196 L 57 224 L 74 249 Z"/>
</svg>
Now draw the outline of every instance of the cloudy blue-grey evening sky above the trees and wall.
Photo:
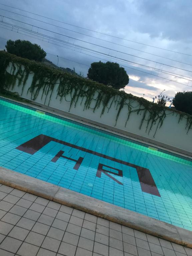
<svg viewBox="0 0 192 256">
<path fill-rule="evenodd" d="M 6 39 L 30 40 L 84 76 L 92 62 L 117 62 L 127 93 L 173 98 L 192 90 L 191 13 L 191 0 L 0 0 L 0 49 Z"/>
</svg>

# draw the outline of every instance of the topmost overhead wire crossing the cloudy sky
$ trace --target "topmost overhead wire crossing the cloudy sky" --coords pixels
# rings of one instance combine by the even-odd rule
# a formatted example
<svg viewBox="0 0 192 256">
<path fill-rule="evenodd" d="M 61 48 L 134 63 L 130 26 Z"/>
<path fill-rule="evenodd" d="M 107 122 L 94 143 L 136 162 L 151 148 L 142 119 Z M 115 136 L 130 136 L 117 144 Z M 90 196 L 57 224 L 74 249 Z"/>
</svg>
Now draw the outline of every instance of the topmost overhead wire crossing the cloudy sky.
<svg viewBox="0 0 192 256">
<path fill-rule="evenodd" d="M 157 46 L 153 46 L 153 45 L 149 45 L 149 44 L 140 43 L 140 42 L 133 41 L 133 40 L 128 40 L 128 39 L 125 39 L 125 38 L 121 38 L 121 37 L 118 37 L 118 36 L 114 36 L 114 35 L 110 35 L 110 34 L 107 34 L 107 33 L 99 32 L 99 31 L 96 31 L 96 30 L 92 30 L 92 29 L 88 29 L 88 28 L 83 28 L 83 27 L 76 26 L 76 25 L 73 25 L 73 24 L 70 24 L 70 23 L 67 23 L 67 22 L 63 22 L 63 21 L 56 20 L 56 19 L 53 19 L 53 18 L 50 18 L 50 17 L 46 17 L 46 16 L 43 16 L 43 15 L 40 15 L 40 14 L 36 14 L 36 13 L 33 13 L 33 12 L 25 11 L 23 9 L 20 9 L 20 8 L 17 8 L 17 7 L 13 7 L 13 6 L 10 6 L 10 5 L 6 5 L 6 4 L 1 4 L 1 5 L 7 6 L 7 7 L 10 7 L 10 8 L 14 8 L 14 9 L 17 9 L 17 10 L 20 10 L 20 11 L 23 11 L 23 12 L 31 13 L 33 15 L 37 15 L 37 16 L 42 17 L 42 18 L 46 18 L 46 19 L 49 19 L 49 20 L 57 21 L 57 22 L 60 22 L 60 23 L 63 23 L 63 24 L 69 25 L 69 26 L 85 29 L 85 30 L 88 30 L 88 31 L 91 31 L 91 32 L 94 32 L 94 33 L 110 36 L 110 37 L 113 37 L 113 38 L 125 40 L 125 41 L 136 43 L 136 44 L 141 44 L 141 45 L 145 45 L 145 46 L 149 46 L 149 47 L 153 47 L 153 48 L 157 48 L 157 49 L 161 49 L 161 50 L 165 50 L 165 51 L 169 51 L 169 52 L 174 52 L 174 53 L 178 53 L 178 54 L 192 56 L 191 54 L 182 53 L 182 52 L 178 52 L 178 51 L 173 51 L 173 50 L 169 50 L 169 49 L 165 49 L 165 48 L 161 48 L 161 47 L 157 47 Z"/>
</svg>

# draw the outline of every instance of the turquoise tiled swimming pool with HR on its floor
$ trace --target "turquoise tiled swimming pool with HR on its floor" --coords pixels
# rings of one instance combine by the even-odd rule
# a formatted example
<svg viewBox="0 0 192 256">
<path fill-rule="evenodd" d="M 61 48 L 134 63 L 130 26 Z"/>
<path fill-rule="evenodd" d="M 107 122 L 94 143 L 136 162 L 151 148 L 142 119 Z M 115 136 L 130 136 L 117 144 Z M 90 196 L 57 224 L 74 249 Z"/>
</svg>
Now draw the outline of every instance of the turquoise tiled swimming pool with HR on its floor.
<svg viewBox="0 0 192 256">
<path fill-rule="evenodd" d="M 0 99 L 0 166 L 192 230 L 192 161 Z"/>
</svg>

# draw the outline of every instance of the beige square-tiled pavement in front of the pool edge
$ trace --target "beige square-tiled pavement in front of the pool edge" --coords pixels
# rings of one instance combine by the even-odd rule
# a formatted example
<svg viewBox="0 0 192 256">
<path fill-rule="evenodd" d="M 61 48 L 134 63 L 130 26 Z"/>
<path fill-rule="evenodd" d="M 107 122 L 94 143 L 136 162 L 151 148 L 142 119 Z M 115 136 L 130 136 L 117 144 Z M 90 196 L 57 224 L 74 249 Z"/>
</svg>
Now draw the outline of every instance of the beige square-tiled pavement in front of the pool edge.
<svg viewBox="0 0 192 256">
<path fill-rule="evenodd" d="M 192 249 L 0 184 L 0 256 L 192 256 Z"/>
</svg>

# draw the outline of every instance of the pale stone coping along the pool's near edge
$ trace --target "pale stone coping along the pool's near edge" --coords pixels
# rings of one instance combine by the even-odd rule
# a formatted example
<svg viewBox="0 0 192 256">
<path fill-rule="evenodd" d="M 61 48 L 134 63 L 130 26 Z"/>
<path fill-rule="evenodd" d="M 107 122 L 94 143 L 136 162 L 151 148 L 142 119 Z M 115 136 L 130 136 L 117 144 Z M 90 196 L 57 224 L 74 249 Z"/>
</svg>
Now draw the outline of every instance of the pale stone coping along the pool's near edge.
<svg viewBox="0 0 192 256">
<path fill-rule="evenodd" d="M 192 231 L 0 167 L 0 183 L 192 248 Z"/>
</svg>

